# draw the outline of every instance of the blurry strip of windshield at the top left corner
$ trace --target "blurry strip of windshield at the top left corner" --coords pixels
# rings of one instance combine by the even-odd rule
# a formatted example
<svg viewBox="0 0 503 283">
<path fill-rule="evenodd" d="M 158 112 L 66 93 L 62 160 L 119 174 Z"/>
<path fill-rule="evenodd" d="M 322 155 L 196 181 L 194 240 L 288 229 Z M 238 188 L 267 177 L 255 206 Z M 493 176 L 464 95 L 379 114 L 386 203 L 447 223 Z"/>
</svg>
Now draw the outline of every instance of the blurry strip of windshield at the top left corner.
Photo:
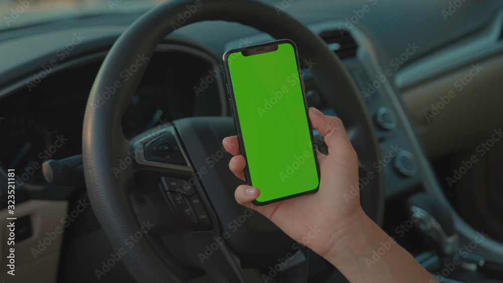
<svg viewBox="0 0 503 283">
<path fill-rule="evenodd" d="M 112 13 L 138 13 L 163 0 L 0 0 L 0 30 Z"/>
</svg>

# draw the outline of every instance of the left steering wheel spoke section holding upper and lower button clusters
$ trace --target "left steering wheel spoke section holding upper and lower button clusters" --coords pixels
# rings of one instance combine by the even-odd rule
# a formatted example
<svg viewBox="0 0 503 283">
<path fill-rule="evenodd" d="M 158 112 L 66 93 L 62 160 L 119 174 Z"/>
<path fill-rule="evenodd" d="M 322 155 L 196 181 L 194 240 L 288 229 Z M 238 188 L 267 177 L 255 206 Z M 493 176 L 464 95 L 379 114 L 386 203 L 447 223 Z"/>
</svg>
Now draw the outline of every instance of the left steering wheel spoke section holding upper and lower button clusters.
<svg viewBox="0 0 503 283">
<path fill-rule="evenodd" d="M 159 226 L 209 230 L 213 223 L 203 202 L 202 187 L 175 127 L 161 125 L 130 140 L 135 192 Z"/>
</svg>

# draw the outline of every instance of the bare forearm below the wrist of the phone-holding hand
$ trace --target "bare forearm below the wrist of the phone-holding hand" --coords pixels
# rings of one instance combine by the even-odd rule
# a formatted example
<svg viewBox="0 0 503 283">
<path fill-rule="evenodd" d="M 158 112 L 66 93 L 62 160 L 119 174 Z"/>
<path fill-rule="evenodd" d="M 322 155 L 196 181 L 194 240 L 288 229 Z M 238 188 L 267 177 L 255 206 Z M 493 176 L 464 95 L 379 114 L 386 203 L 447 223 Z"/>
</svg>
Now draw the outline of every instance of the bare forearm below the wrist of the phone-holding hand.
<svg viewBox="0 0 503 283">
<path fill-rule="evenodd" d="M 323 256 L 351 282 L 437 282 L 366 215 L 334 238 Z"/>
</svg>

